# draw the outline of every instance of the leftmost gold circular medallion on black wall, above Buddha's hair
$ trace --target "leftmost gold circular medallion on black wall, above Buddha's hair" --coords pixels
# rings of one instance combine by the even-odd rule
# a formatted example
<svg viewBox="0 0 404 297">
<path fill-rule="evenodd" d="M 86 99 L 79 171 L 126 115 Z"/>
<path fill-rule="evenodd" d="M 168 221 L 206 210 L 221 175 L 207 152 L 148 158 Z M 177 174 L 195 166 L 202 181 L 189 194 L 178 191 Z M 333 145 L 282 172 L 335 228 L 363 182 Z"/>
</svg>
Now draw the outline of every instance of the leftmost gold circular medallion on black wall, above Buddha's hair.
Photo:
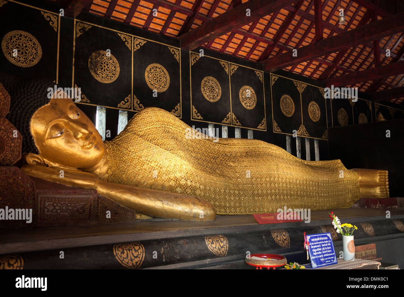
<svg viewBox="0 0 404 297">
<path fill-rule="evenodd" d="M 4 35 L 1 42 L 4 56 L 19 67 L 34 66 L 42 57 L 38 40 L 25 31 L 11 31 Z"/>
</svg>

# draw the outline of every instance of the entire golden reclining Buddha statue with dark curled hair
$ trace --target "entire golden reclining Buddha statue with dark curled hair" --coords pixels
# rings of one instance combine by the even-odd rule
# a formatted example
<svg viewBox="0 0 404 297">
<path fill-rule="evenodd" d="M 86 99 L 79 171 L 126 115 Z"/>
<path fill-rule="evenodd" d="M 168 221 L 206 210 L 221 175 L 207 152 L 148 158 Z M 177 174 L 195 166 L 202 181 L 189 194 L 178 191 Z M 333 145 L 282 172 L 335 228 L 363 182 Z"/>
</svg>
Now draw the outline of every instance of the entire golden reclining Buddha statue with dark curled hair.
<svg viewBox="0 0 404 297">
<path fill-rule="evenodd" d="M 0 83 L 11 95 L 8 119 L 23 135 L 25 174 L 96 189 L 144 215 L 212 221 L 216 214 L 337 209 L 362 195 L 388 196 L 387 171 L 305 161 L 254 139 L 192 139 L 187 124 L 156 107 L 103 142 L 72 99 L 48 99 L 54 83 L 8 74 Z"/>
</svg>

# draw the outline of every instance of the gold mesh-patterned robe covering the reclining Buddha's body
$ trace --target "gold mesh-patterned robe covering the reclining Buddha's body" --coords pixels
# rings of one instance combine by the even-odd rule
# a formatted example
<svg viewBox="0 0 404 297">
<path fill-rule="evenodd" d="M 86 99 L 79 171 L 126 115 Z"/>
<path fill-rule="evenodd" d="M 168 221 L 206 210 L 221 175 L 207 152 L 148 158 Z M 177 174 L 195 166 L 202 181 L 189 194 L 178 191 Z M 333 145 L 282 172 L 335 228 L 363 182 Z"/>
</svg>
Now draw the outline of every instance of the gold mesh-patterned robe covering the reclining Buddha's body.
<svg viewBox="0 0 404 297">
<path fill-rule="evenodd" d="M 108 181 L 197 196 L 228 215 L 344 208 L 360 198 L 358 174 L 340 160 L 305 161 L 255 139 L 187 139 L 187 128 L 159 108 L 136 114 L 105 142 Z"/>
</svg>

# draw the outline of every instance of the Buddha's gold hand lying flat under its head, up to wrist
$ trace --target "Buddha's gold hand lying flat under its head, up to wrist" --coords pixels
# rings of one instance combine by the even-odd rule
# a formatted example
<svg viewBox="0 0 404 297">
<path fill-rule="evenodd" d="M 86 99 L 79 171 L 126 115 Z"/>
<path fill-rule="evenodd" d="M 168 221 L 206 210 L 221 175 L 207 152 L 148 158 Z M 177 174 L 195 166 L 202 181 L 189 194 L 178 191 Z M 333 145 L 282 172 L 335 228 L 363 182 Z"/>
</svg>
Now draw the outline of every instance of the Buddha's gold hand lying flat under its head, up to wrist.
<svg viewBox="0 0 404 297">
<path fill-rule="evenodd" d="M 38 177 L 46 181 L 86 189 L 97 189 L 97 185 L 100 181 L 96 175 L 91 173 L 83 171 L 68 171 L 40 165 L 25 164 L 21 167 L 21 171 L 26 175 Z"/>
</svg>

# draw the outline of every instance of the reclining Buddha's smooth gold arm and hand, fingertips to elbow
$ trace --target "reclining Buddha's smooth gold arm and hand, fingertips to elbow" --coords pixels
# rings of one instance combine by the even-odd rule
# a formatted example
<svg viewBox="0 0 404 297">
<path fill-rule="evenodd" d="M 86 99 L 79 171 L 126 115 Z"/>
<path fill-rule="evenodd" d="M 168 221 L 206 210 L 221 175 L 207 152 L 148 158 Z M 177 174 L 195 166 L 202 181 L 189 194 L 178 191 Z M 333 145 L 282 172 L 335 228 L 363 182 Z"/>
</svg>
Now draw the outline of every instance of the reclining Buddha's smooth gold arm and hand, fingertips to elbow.
<svg viewBox="0 0 404 297">
<path fill-rule="evenodd" d="M 193 196 L 109 183 L 100 180 L 96 175 L 81 171 L 64 171 L 61 177 L 58 169 L 44 166 L 27 164 L 22 166 L 21 170 L 27 175 L 47 181 L 96 189 L 99 195 L 152 217 L 213 221 L 216 216 L 215 207 L 212 204 Z"/>
</svg>

